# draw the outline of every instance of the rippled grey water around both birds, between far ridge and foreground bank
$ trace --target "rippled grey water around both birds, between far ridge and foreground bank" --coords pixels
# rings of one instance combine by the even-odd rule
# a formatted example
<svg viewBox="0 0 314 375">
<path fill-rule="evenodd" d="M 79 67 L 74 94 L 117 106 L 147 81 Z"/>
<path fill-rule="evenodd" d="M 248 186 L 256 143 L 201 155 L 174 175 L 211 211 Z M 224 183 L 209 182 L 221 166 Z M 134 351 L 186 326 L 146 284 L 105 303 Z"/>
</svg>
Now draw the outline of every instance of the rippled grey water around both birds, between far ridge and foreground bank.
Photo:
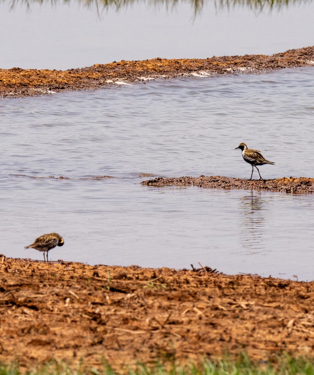
<svg viewBox="0 0 314 375">
<path fill-rule="evenodd" d="M 140 185 L 249 178 L 242 141 L 276 162 L 263 178 L 312 177 L 313 92 L 298 68 L 1 100 L 2 252 L 42 259 L 23 246 L 57 231 L 51 260 L 314 279 L 312 195 Z"/>
</svg>

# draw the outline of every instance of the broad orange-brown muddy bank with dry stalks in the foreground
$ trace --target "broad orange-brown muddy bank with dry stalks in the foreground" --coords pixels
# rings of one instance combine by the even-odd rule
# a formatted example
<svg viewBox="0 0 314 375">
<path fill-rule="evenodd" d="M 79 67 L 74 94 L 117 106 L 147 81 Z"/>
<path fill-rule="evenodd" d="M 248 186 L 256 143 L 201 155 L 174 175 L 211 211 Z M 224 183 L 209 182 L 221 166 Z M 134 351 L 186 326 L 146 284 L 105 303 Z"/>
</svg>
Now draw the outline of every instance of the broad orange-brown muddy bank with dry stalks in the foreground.
<svg viewBox="0 0 314 375">
<path fill-rule="evenodd" d="M 0 361 L 26 368 L 84 357 L 97 368 L 104 357 L 117 369 L 226 350 L 257 359 L 310 354 L 313 290 L 314 282 L 206 267 L 89 266 L 0 255 Z"/>
</svg>

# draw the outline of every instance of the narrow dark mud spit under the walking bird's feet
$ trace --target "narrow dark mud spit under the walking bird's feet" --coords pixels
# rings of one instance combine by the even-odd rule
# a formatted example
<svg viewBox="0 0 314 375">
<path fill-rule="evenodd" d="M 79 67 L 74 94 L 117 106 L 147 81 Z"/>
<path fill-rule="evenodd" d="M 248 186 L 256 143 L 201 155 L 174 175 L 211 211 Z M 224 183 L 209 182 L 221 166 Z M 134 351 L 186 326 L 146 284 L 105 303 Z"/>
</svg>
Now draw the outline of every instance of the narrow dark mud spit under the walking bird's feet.
<svg viewBox="0 0 314 375">
<path fill-rule="evenodd" d="M 198 186 L 206 189 L 245 189 L 263 190 L 286 193 L 312 193 L 314 192 L 314 178 L 307 177 L 281 177 L 275 180 L 244 180 L 243 178 L 229 178 L 222 176 L 199 177 L 157 177 L 152 180 L 142 181 L 144 186 Z"/>
</svg>

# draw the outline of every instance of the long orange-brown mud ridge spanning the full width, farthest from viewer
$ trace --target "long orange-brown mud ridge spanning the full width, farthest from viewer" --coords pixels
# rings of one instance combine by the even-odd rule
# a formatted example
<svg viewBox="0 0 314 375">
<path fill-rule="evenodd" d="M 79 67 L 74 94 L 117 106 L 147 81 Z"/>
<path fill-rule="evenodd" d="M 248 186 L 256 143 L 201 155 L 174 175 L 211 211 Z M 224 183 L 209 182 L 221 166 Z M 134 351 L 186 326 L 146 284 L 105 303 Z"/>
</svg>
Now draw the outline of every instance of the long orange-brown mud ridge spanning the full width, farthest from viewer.
<svg viewBox="0 0 314 375">
<path fill-rule="evenodd" d="M 97 89 L 104 85 L 186 75 L 232 74 L 314 65 L 314 46 L 271 56 L 222 56 L 207 59 L 154 58 L 96 64 L 82 69 L 0 69 L 0 98 L 49 94 L 63 90 Z"/>
</svg>

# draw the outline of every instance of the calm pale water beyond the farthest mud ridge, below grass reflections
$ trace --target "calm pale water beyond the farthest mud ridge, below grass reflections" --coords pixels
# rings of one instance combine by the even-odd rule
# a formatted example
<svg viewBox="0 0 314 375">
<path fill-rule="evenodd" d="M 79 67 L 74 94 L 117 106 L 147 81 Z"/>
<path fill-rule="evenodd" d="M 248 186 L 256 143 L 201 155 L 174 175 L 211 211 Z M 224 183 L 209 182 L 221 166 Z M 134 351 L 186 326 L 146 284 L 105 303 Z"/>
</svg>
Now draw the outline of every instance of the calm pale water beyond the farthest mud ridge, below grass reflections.
<svg viewBox="0 0 314 375">
<path fill-rule="evenodd" d="M 247 0 L 248 6 L 232 6 L 209 0 L 196 15 L 181 1 L 125 1 L 118 11 L 86 2 L 90 6 L 84 0 L 0 1 L 0 68 L 65 70 L 122 59 L 274 54 L 314 40 L 314 1 Z"/>
</svg>

